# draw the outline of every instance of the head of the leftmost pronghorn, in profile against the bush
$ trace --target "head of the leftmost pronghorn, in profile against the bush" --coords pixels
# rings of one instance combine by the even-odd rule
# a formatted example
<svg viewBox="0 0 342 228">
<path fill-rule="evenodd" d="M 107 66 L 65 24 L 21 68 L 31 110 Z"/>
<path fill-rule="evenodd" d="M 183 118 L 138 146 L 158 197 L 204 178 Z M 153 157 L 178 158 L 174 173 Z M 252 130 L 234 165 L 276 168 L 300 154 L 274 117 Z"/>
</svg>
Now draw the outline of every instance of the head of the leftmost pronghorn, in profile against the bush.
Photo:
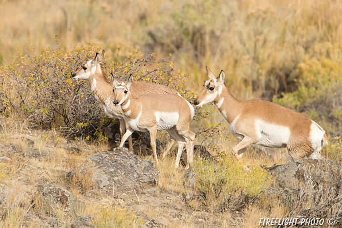
<svg viewBox="0 0 342 228">
<path fill-rule="evenodd" d="M 96 52 L 95 58 L 89 60 L 84 65 L 80 67 L 73 75 L 73 79 L 88 79 L 91 75 L 95 74 L 97 65 L 103 64 L 103 56 L 105 55 L 105 50 L 102 50 L 101 55 Z"/>
</svg>

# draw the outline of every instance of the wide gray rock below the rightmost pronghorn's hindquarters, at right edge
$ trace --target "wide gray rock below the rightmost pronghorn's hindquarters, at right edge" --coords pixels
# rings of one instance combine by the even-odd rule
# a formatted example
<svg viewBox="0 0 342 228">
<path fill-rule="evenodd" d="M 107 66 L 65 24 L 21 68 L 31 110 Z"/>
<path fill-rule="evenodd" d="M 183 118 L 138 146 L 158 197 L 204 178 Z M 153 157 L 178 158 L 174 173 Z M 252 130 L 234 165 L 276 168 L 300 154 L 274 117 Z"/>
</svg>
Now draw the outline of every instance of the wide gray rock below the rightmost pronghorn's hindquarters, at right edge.
<svg viewBox="0 0 342 228">
<path fill-rule="evenodd" d="M 329 185 L 340 175 L 341 167 L 331 160 L 299 159 L 281 166 L 266 168 L 275 179 L 274 187 L 300 188 L 306 175 L 314 176 L 318 185 Z"/>
</svg>

